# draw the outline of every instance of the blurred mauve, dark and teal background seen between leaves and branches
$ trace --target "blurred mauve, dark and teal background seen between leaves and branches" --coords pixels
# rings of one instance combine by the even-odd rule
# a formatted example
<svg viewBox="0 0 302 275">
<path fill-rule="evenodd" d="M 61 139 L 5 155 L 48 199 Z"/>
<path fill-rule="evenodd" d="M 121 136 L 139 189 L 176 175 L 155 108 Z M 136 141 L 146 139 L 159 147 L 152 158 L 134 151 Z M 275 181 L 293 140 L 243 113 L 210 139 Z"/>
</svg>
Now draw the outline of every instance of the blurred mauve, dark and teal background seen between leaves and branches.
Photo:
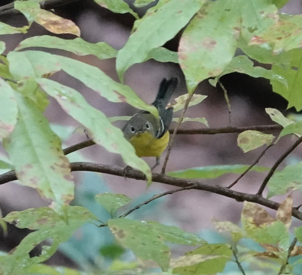
<svg viewBox="0 0 302 275">
<path fill-rule="evenodd" d="M 2 0 L 3 6 L 12 1 Z M 143 15 L 146 8 L 136 8 L 132 5 L 133 0 L 126 1 L 139 15 Z M 92 0 L 78 1 L 55 9 L 55 14 L 74 21 L 81 30 L 81 38 L 96 43 L 104 41 L 115 49 L 121 49 L 126 43 L 135 18 L 130 14 L 115 14 L 95 4 Z M 282 12 L 290 14 L 302 13 L 302 1 L 290 0 L 282 9 Z M 27 21 L 23 15 L 0 14 L 0 21 L 12 26 L 24 26 Z M 28 33 L 15 35 L 1 35 L 0 39 L 6 43 L 6 52 L 14 49 L 21 40 L 35 35 L 54 35 L 36 23 L 33 23 Z M 167 49 L 177 51 L 181 33 L 173 40 L 165 44 Z M 65 39 L 74 38 L 73 35 L 57 35 Z M 55 54 L 62 54 L 85 63 L 89 63 L 103 70 L 108 76 L 118 81 L 115 70 L 115 59 L 99 60 L 93 56 L 76 56 L 61 50 L 41 49 Z M 151 59 L 142 64 L 135 64 L 129 68 L 124 77 L 124 83 L 130 86 L 147 103 L 151 103 L 156 95 L 159 84 L 163 77 L 178 77 L 180 85 L 175 94 L 180 96 L 186 93 L 184 76 L 178 64 L 159 63 Z M 100 97 L 97 93 L 89 90 L 78 80 L 68 76 L 64 72 L 57 72 L 52 79 L 71 86 L 79 91 L 86 100 L 95 108 L 101 110 L 108 117 L 132 115 L 136 112 L 134 108 L 124 103 L 112 103 Z M 253 126 L 273 124 L 264 108 L 271 107 L 283 113 L 294 112 L 286 110 L 287 102 L 271 90 L 269 81 L 261 78 L 252 78 L 247 75 L 232 73 L 221 78 L 221 82 L 228 91 L 232 107 L 232 126 Z M 210 128 L 226 127 L 228 121 L 228 107 L 220 87 L 211 86 L 208 81 L 199 84 L 196 91 L 198 94 L 208 97 L 199 105 L 190 107 L 187 117 L 205 117 Z M 175 117 L 179 116 L 175 113 Z M 86 139 L 85 135 L 74 132 L 79 124 L 68 116 L 55 100 L 50 99 L 50 105 L 45 112 L 46 117 L 53 125 L 54 131 L 62 138 L 63 148 Z M 119 121 L 115 125 L 122 127 L 125 122 Z M 172 124 L 171 127 L 175 126 Z M 201 128 L 203 124 L 186 122 L 181 128 Z M 277 135 L 278 132 L 270 132 Z M 285 137 L 262 157 L 259 165 L 271 167 L 277 158 L 293 142 L 291 137 Z M 216 134 L 216 135 L 177 135 L 167 165 L 167 171 L 186 169 L 190 167 L 207 165 L 250 165 L 259 156 L 264 147 L 243 153 L 237 146 L 237 134 Z M 290 163 L 301 161 L 302 147 L 298 147 L 289 157 L 286 158 L 282 167 Z M 2 156 L 5 153 L 2 150 Z M 163 163 L 165 154 L 161 157 Z M 70 161 L 92 161 L 124 167 L 121 157 L 117 154 L 107 152 L 98 145 L 82 149 L 69 155 Z M 154 158 L 145 158 L 152 166 Z M 161 165 L 154 172 L 160 172 Z M 100 219 L 106 220 L 104 209 L 93 200 L 96 193 L 114 192 L 126 194 L 133 199 L 132 206 L 150 198 L 152 195 L 174 189 L 172 186 L 153 183 L 146 189 L 144 181 L 132 179 L 125 180 L 122 177 L 113 175 L 102 175 L 90 172 L 73 172 L 76 182 L 76 197 L 73 204 L 82 205 L 93 211 Z M 245 193 L 256 193 L 265 173 L 249 172 L 234 187 L 234 190 Z M 228 186 L 238 175 L 229 174 L 217 179 L 206 180 L 209 184 Z M 280 202 L 284 196 L 275 197 Z M 301 204 L 301 196 L 294 194 L 294 205 Z M 5 216 L 11 211 L 20 211 L 30 207 L 46 206 L 38 193 L 15 182 L 0 186 L 0 207 L 2 215 Z M 240 213 L 243 204 L 223 196 L 197 191 L 187 190 L 157 199 L 152 203 L 141 207 L 131 214 L 133 219 L 159 221 L 165 225 L 176 225 L 180 228 L 196 233 L 206 240 L 219 242 L 223 238 L 215 233 L 211 218 L 229 220 L 234 223 L 240 221 Z M 131 207 L 131 206 L 130 206 Z M 128 207 L 122 208 L 127 211 Z M 270 211 L 275 215 L 274 211 Z M 295 221 L 294 221 L 295 222 Z M 28 234 L 27 230 L 16 229 L 9 226 L 8 234 L 0 237 L 0 249 L 9 251 L 14 248 Z M 173 247 L 173 254 L 181 255 L 183 250 Z M 183 249 L 183 248 L 181 248 Z M 39 249 L 32 251 L 38 254 Z M 67 265 L 76 268 L 104 268 L 111 263 L 112 259 L 133 260 L 134 256 L 119 247 L 113 240 L 107 228 L 97 228 L 92 225 L 85 225 L 77 234 L 60 247 L 48 260 L 48 263 L 55 265 Z"/>
</svg>

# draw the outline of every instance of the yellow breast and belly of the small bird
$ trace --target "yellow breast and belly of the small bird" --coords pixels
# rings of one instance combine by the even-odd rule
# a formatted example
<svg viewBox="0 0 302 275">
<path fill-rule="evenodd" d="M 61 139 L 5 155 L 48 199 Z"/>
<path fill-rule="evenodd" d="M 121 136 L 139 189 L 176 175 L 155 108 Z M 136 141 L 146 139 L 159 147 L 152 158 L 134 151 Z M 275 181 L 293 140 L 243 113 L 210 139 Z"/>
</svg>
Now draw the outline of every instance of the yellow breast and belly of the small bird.
<svg viewBox="0 0 302 275">
<path fill-rule="evenodd" d="M 137 156 L 160 157 L 169 143 L 170 133 L 167 131 L 161 138 L 154 137 L 149 132 L 138 133 L 129 142 L 135 148 Z"/>
</svg>

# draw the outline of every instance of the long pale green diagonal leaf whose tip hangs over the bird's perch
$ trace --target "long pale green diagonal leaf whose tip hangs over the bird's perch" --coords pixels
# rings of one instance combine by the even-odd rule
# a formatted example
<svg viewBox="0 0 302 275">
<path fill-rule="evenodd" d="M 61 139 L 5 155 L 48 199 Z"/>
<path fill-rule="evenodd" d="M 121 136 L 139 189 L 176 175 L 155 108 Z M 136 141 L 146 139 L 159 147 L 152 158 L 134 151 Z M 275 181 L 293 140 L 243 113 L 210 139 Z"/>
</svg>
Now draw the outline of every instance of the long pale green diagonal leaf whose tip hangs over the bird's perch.
<svg viewBox="0 0 302 275">
<path fill-rule="evenodd" d="M 120 154 L 127 165 L 142 171 L 151 180 L 150 167 L 135 154 L 135 149 L 126 141 L 122 130 L 114 127 L 101 111 L 89 105 L 79 92 L 50 79 L 37 78 L 36 81 L 58 101 L 66 113 L 89 130 L 89 137 L 95 143 L 109 152 Z"/>
</svg>

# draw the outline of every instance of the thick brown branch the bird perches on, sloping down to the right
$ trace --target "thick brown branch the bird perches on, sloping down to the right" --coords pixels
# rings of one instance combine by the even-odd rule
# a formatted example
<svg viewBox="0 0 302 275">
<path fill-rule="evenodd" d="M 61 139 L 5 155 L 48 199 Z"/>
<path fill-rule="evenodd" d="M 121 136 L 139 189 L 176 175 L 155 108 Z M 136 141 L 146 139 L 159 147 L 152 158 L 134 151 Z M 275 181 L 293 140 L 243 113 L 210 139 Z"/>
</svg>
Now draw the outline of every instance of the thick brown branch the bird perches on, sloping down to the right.
<svg viewBox="0 0 302 275">
<path fill-rule="evenodd" d="M 73 162 L 71 163 L 71 171 L 92 171 L 92 172 L 116 175 L 120 177 L 124 176 L 123 175 L 124 168 L 116 167 L 113 165 L 106 165 L 106 164 L 95 164 L 91 162 Z M 146 176 L 142 172 L 133 169 L 128 172 L 127 177 L 132 179 L 139 179 L 139 180 L 146 179 Z M 16 180 L 16 179 L 17 177 L 15 171 L 9 171 L 7 173 L 0 175 L 0 184 L 5 184 L 9 181 Z M 262 196 L 259 196 L 257 194 L 242 193 L 219 185 L 206 184 L 206 183 L 201 183 L 201 182 L 191 181 L 186 179 L 178 179 L 162 174 L 152 174 L 152 181 L 168 184 L 172 186 L 177 186 L 177 187 L 189 187 L 195 185 L 194 188 L 192 189 L 220 194 L 228 198 L 233 198 L 240 202 L 248 201 L 248 202 L 258 203 L 260 205 L 266 206 L 274 210 L 277 210 L 280 206 L 279 203 L 263 198 Z M 293 208 L 292 210 L 292 216 L 302 221 L 302 212 L 300 212 L 295 208 Z"/>
</svg>

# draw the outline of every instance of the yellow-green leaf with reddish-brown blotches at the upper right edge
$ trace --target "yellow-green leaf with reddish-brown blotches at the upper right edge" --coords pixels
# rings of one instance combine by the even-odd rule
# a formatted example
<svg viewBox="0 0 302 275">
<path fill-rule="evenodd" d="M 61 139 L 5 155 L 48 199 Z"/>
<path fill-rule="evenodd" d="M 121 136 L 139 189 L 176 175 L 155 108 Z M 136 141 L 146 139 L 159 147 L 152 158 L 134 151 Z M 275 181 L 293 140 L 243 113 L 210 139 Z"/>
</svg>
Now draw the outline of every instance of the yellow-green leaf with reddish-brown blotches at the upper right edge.
<svg viewBox="0 0 302 275">
<path fill-rule="evenodd" d="M 279 14 L 278 21 L 263 33 L 252 37 L 251 45 L 261 45 L 264 48 L 272 46 L 273 52 L 279 54 L 301 47 L 302 15 Z"/>
</svg>

